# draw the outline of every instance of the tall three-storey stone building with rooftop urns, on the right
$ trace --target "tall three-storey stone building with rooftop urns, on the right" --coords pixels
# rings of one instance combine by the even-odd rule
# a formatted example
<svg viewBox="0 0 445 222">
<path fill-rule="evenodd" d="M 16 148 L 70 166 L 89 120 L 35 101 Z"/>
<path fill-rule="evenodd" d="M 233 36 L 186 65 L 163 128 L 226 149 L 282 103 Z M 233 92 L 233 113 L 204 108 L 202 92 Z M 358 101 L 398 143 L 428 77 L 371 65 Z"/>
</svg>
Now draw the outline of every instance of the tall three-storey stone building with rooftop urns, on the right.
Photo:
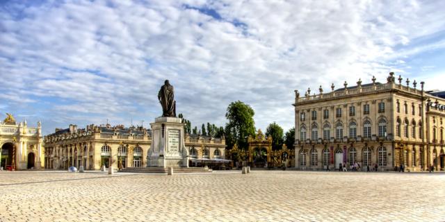
<svg viewBox="0 0 445 222">
<path fill-rule="evenodd" d="M 338 169 L 354 162 L 366 170 L 418 171 L 433 165 L 443 170 L 445 99 L 425 92 L 416 81 L 390 73 L 386 83 L 375 82 L 304 96 L 296 90 L 296 167 Z M 402 84 L 403 83 L 403 84 Z M 441 97 L 442 96 L 442 97 Z"/>
</svg>

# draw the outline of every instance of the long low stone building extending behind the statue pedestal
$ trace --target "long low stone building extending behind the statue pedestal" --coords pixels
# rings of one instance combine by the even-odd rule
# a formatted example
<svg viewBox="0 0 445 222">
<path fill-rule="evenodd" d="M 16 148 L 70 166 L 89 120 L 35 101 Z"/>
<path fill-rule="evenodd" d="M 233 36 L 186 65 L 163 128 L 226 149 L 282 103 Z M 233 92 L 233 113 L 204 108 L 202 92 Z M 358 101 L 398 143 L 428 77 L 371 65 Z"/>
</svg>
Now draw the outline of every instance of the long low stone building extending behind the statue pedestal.
<svg viewBox="0 0 445 222">
<path fill-rule="evenodd" d="M 151 130 L 124 126 L 87 126 L 78 129 L 56 129 L 44 137 L 44 166 L 67 169 L 74 166 L 98 170 L 109 167 L 146 167 L 147 152 L 152 144 Z M 225 139 L 186 135 L 185 146 L 191 160 L 225 157 Z"/>
</svg>

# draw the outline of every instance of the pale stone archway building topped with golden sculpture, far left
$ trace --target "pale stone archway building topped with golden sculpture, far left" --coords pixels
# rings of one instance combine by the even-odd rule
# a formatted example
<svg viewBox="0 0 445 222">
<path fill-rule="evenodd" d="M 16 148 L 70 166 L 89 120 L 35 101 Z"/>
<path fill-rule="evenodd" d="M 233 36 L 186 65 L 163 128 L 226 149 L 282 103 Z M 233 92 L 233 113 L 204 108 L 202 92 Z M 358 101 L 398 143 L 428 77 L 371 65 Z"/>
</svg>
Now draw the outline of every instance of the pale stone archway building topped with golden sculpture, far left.
<svg viewBox="0 0 445 222">
<path fill-rule="evenodd" d="M 29 127 L 26 120 L 15 121 L 12 114 L 0 123 L 0 167 L 3 169 L 40 169 L 43 167 L 42 131 Z"/>
</svg>

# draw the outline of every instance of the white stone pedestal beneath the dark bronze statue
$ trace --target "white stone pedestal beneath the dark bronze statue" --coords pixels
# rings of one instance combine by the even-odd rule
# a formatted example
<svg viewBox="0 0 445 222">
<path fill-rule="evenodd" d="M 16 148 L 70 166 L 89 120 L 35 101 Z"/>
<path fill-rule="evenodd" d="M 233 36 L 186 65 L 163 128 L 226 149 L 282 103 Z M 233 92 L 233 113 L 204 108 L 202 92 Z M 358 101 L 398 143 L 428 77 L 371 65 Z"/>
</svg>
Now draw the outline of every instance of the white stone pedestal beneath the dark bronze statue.
<svg viewBox="0 0 445 222">
<path fill-rule="evenodd" d="M 152 146 L 147 154 L 147 167 L 188 167 L 182 119 L 158 117 L 150 125 Z"/>
</svg>

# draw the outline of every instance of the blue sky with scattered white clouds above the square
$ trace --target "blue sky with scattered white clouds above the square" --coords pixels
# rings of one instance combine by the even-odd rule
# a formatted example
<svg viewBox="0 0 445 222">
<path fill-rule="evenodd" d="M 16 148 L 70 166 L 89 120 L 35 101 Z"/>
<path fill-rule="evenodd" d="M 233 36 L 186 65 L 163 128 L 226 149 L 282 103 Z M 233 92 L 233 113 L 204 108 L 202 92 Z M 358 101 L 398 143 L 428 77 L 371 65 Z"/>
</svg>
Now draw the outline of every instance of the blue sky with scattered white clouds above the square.
<svg viewBox="0 0 445 222">
<path fill-rule="evenodd" d="M 226 122 L 232 101 L 257 128 L 293 126 L 294 89 L 389 71 L 445 89 L 445 1 L 1 1 L 0 112 L 44 134 L 70 123 L 144 125 L 157 92 L 177 112 Z M 314 90 L 315 89 L 315 90 Z M 2 117 L 3 119 L 3 117 Z"/>
</svg>

